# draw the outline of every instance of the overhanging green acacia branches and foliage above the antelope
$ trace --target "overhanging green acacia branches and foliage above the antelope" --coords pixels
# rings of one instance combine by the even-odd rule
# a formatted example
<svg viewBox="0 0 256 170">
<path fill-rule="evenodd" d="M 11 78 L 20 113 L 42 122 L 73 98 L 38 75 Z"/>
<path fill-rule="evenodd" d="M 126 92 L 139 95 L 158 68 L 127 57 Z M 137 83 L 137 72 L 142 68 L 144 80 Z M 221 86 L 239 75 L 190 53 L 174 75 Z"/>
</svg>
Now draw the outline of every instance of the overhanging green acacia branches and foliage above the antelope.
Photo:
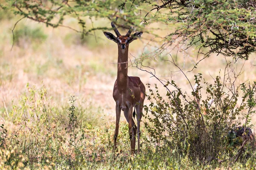
<svg viewBox="0 0 256 170">
<path fill-rule="evenodd" d="M 88 27 L 88 17 L 118 17 L 117 26 L 138 27 L 151 34 L 154 28 L 148 24 L 161 23 L 172 32 L 162 37 L 160 52 L 175 40 L 189 42 L 187 48 L 196 45 L 205 57 L 217 53 L 248 59 L 256 50 L 256 0 L 4 0 L 0 6 L 54 28 L 71 28 L 63 21 L 74 17 L 81 29 L 71 29 L 82 37 L 94 30 L 111 29 Z"/>
</svg>

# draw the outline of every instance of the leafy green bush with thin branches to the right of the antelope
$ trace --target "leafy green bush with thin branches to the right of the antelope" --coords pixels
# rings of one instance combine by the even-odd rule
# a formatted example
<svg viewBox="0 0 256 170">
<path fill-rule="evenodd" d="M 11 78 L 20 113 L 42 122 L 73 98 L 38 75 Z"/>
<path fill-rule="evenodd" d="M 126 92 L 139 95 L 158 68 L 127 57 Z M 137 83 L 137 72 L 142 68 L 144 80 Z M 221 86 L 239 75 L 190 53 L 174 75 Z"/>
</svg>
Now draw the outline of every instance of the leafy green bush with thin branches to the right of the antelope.
<svg viewBox="0 0 256 170">
<path fill-rule="evenodd" d="M 198 74 L 195 75 L 197 86 L 191 94 L 183 92 L 175 81 L 162 82 L 167 91 L 164 97 L 160 95 L 157 85 L 154 91 L 148 84 L 147 97 L 151 104 L 144 107 L 148 119 L 145 126 L 157 150 L 169 150 L 170 153 L 207 164 L 212 160 L 236 162 L 242 148 L 232 150 L 233 155 L 229 154 L 227 134 L 241 125 L 242 119 L 246 119 L 243 126 L 252 127 L 250 118 L 255 112 L 256 82 L 235 87 L 235 81 L 230 72 L 224 79 L 217 76 L 213 84 L 202 82 L 202 74 Z M 202 88 L 201 84 L 206 88 Z M 240 103 L 239 88 L 243 92 Z M 208 102 L 212 99 L 213 106 L 209 107 Z M 251 147 L 247 144 L 244 148 Z"/>
</svg>

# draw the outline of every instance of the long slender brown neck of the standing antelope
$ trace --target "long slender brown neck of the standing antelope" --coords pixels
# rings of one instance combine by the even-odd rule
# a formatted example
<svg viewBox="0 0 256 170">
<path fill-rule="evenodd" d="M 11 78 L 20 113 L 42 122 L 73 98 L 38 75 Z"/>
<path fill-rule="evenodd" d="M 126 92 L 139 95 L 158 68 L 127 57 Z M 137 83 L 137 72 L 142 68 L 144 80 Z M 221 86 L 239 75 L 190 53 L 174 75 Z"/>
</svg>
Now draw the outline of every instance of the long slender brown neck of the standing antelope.
<svg viewBox="0 0 256 170">
<path fill-rule="evenodd" d="M 119 91 L 124 91 L 128 85 L 128 47 L 122 49 L 118 46 L 117 86 Z"/>
</svg>

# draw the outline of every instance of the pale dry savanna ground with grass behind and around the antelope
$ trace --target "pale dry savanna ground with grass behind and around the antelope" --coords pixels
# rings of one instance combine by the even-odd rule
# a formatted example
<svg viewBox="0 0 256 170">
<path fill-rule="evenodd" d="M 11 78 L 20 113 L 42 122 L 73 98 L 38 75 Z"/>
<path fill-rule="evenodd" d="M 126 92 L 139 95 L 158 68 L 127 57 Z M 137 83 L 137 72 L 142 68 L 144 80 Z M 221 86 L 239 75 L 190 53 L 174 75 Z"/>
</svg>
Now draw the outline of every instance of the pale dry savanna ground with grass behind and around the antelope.
<svg viewBox="0 0 256 170">
<path fill-rule="evenodd" d="M 236 164 L 201 164 L 172 150 L 155 152 L 142 123 L 141 154 L 131 157 L 128 124 L 122 114 L 116 159 L 113 161 L 115 102 L 112 97 L 116 79 L 117 46 L 102 31 L 84 37 L 68 28 L 49 28 L 31 20 L 0 13 L 0 124 L 1 169 L 254 169 L 253 161 Z M 90 19 L 87 20 L 90 23 Z M 108 19 L 93 20 L 94 26 L 110 26 Z M 76 27 L 76 21 L 64 24 Z M 77 26 L 78 27 L 78 26 Z M 154 27 L 154 25 L 151 25 Z M 78 27 L 79 28 L 79 27 Z M 166 35 L 164 28 L 154 33 Z M 121 30 L 124 34 L 127 30 Z M 155 69 L 160 79 L 172 79 L 188 94 L 192 88 L 186 77 L 168 60 L 175 59 L 188 79 L 202 73 L 207 82 L 223 76 L 227 60 L 212 55 L 192 68 L 200 58 L 197 49 L 180 52 L 181 45 L 170 47 L 164 56 L 153 52 L 160 43 L 144 33 L 129 47 L 128 75 L 158 84 L 151 74 L 134 67 L 134 59 Z M 256 81 L 255 57 L 238 60 L 231 68 L 241 71 L 236 83 Z M 150 68 L 147 68 L 151 70 Z M 192 71 L 191 71 L 192 70 Z M 189 71 L 189 72 L 188 72 Z M 203 90 L 204 91 L 204 90 Z M 146 91 L 148 93 L 148 91 Z M 202 96 L 206 94 L 202 93 Z M 73 98 L 71 96 L 74 96 Z M 241 100 L 241 99 L 239 99 Z M 145 105 L 149 102 L 145 99 Z M 74 106 L 74 107 L 73 107 Z M 143 120 L 145 121 L 145 119 Z M 253 125 L 256 120 L 252 119 Z"/>
</svg>

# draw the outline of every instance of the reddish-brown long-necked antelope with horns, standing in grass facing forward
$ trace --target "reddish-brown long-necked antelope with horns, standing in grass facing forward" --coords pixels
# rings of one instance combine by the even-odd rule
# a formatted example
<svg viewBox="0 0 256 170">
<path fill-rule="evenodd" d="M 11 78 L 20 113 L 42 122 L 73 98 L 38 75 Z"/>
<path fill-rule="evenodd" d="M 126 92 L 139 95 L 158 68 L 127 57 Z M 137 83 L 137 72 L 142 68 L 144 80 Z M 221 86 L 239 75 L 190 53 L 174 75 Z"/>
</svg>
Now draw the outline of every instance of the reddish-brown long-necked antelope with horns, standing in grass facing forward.
<svg viewBox="0 0 256 170">
<path fill-rule="evenodd" d="M 114 135 L 114 149 L 116 148 L 116 139 L 118 136 L 120 114 L 122 110 L 124 111 L 125 119 L 129 123 L 131 154 L 133 155 L 135 152 L 136 133 L 138 136 L 138 153 L 140 153 L 140 120 L 142 117 L 143 102 L 145 99 L 145 86 L 140 81 L 139 77 L 129 77 L 127 75 L 128 47 L 132 41 L 140 38 L 143 32 L 136 32 L 130 37 L 132 28 L 129 29 L 126 35 L 121 35 L 113 22 L 111 22 L 111 26 L 117 37 L 115 37 L 110 32 L 104 32 L 104 34 L 109 40 L 116 42 L 118 46 L 117 78 L 113 89 L 113 98 L 116 101 L 116 129 Z M 132 118 L 134 107 L 137 113 L 137 127 Z"/>
</svg>

